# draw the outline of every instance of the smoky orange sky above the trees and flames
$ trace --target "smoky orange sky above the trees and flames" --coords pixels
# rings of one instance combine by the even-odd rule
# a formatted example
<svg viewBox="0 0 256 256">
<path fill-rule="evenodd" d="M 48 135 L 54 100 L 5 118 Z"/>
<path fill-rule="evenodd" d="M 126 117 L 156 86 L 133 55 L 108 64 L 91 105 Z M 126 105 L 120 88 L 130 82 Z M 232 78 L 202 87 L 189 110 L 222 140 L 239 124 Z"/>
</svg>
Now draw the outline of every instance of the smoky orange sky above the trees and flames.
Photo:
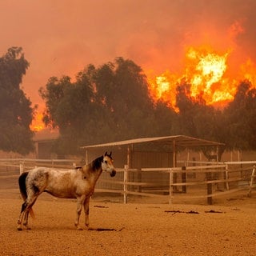
<svg viewBox="0 0 256 256">
<path fill-rule="evenodd" d="M 33 104 L 51 76 L 130 58 L 143 70 L 182 74 L 189 46 L 230 50 L 231 76 L 256 62 L 254 0 L 0 0 L 0 54 L 22 46 L 22 88 Z"/>
</svg>

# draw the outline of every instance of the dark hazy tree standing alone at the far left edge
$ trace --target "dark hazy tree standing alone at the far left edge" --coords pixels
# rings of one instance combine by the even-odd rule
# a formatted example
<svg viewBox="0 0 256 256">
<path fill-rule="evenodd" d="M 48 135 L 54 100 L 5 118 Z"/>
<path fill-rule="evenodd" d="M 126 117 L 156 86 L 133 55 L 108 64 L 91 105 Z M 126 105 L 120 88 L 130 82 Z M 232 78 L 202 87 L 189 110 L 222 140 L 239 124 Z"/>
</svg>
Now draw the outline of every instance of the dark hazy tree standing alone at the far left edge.
<svg viewBox="0 0 256 256">
<path fill-rule="evenodd" d="M 0 58 L 0 149 L 20 154 L 34 150 L 30 130 L 33 109 L 20 89 L 28 66 L 21 47 L 10 48 Z"/>
</svg>

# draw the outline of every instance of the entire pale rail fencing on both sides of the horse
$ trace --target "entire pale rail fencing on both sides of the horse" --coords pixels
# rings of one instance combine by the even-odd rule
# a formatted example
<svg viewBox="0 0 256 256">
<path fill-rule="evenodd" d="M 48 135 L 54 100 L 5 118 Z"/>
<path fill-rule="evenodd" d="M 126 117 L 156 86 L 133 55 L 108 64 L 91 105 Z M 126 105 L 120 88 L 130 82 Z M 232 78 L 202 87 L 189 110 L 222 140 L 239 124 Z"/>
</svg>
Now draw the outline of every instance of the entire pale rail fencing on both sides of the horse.
<svg viewBox="0 0 256 256">
<path fill-rule="evenodd" d="M 102 174 L 95 188 L 97 194 L 122 196 L 123 202 L 131 197 L 155 198 L 158 202 L 178 203 L 194 199 L 213 204 L 213 198 L 232 196 L 244 190 L 254 191 L 255 164 L 250 162 L 182 162 L 175 168 L 117 168 L 115 178 Z M 74 168 L 76 162 L 66 159 L 0 159 L 0 178 L 14 179 L 34 166 L 49 166 L 63 170 Z M 198 201 L 197 201 L 198 202 Z"/>
</svg>

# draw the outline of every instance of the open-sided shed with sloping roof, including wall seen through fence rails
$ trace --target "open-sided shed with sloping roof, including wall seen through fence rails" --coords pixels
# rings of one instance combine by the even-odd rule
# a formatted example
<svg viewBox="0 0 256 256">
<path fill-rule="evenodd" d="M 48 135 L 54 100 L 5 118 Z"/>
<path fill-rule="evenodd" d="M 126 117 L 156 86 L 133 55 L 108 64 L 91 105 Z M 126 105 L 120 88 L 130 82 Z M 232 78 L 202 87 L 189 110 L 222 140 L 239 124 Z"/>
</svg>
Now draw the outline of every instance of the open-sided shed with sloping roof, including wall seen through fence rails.
<svg viewBox="0 0 256 256">
<path fill-rule="evenodd" d="M 154 138 L 134 138 L 120 142 L 109 142 L 98 145 L 82 146 L 85 150 L 86 163 L 104 154 L 106 151 L 113 152 L 114 166 L 122 170 L 129 169 L 127 179 L 130 182 L 144 184 L 152 184 L 146 190 L 159 190 L 163 193 L 163 188 L 170 186 L 170 176 L 166 172 L 154 171 L 159 168 L 170 168 L 177 166 L 178 152 L 187 148 L 200 150 L 202 147 L 210 146 L 218 155 L 219 146 L 224 144 L 212 142 L 201 138 L 193 138 L 184 135 L 154 137 Z M 218 161 L 218 159 L 216 159 Z M 144 171 L 151 169 L 152 171 Z M 155 168 L 155 169 L 154 169 Z M 122 182 L 124 180 L 123 171 L 118 172 L 115 181 Z M 181 177 L 182 178 L 182 177 Z M 174 182 L 178 181 L 178 175 L 174 174 Z M 105 182 L 104 182 L 105 181 Z M 108 182 L 109 181 L 109 182 Z M 108 175 L 102 174 L 97 184 L 98 189 L 103 190 L 120 190 L 121 185 L 110 184 Z M 142 186 L 130 186 L 130 190 L 142 191 Z"/>
</svg>

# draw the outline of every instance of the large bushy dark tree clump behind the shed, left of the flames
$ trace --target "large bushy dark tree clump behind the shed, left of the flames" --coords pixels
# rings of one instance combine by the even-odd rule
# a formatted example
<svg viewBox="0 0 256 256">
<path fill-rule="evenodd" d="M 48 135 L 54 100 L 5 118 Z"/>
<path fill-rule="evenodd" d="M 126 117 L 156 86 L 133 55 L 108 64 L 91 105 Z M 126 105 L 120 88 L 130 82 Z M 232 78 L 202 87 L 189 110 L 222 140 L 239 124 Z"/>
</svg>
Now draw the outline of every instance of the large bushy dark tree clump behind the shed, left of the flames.
<svg viewBox="0 0 256 256">
<path fill-rule="evenodd" d="M 44 122 L 60 131 L 59 154 L 76 154 L 88 144 L 170 134 L 173 113 L 154 106 L 145 74 L 130 60 L 116 58 L 98 68 L 90 64 L 73 83 L 68 77 L 50 78 L 39 92 L 46 102 Z"/>
</svg>

